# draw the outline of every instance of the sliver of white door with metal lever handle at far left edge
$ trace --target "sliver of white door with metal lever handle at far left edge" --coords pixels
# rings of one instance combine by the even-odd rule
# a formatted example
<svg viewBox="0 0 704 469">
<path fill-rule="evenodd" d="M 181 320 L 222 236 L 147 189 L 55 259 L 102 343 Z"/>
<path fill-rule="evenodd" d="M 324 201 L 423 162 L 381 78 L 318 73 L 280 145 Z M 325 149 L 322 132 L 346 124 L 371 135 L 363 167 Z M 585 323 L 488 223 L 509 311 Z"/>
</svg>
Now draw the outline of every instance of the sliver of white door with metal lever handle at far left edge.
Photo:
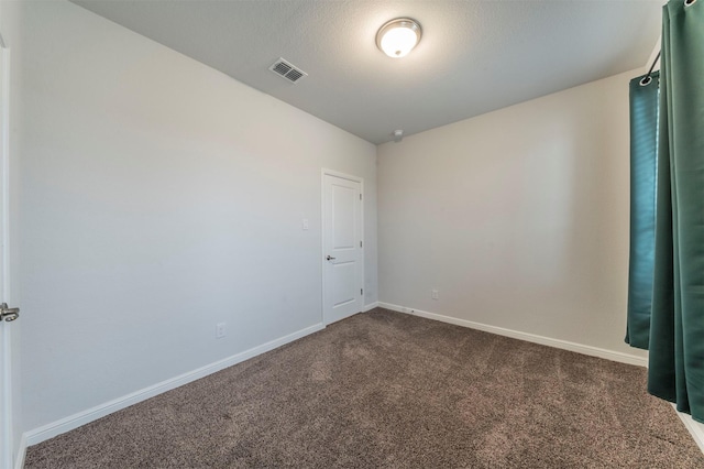
<svg viewBox="0 0 704 469">
<path fill-rule="evenodd" d="M 0 295 L 10 303 L 10 50 L 0 36 Z M 0 469 L 14 466 L 12 416 L 12 326 L 0 324 Z"/>
</svg>

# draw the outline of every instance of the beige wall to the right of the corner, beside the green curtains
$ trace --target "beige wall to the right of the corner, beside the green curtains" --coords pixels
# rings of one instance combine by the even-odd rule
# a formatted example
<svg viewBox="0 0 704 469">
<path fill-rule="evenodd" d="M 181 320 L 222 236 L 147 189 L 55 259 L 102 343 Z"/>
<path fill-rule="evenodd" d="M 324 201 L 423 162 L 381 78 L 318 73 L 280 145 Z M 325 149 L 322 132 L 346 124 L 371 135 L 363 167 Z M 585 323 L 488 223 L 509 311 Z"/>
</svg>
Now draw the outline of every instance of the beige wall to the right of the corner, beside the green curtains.
<svg viewBox="0 0 704 469">
<path fill-rule="evenodd" d="M 644 357 L 624 343 L 639 73 L 381 145 L 380 301 Z"/>
</svg>

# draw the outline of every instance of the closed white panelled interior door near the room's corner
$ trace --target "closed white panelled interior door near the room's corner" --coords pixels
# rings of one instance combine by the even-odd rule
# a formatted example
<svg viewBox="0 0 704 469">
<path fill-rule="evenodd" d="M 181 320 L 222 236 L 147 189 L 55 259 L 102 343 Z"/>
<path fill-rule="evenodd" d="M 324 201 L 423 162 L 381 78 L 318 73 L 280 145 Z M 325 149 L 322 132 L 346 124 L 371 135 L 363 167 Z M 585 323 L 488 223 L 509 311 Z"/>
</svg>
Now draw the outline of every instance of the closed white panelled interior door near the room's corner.
<svg viewBox="0 0 704 469">
<path fill-rule="evenodd" d="M 362 179 L 330 172 L 322 182 L 323 323 L 364 306 Z"/>
</svg>

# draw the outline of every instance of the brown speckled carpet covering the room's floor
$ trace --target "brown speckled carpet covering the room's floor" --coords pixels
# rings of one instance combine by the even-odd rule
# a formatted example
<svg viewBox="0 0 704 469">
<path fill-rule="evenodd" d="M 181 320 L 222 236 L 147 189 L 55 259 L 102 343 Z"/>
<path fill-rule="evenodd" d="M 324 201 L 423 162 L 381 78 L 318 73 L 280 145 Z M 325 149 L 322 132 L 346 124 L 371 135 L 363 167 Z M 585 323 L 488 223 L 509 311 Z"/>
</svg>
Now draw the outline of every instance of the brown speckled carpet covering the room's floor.
<svg viewBox="0 0 704 469">
<path fill-rule="evenodd" d="M 646 370 L 375 309 L 57 436 L 28 468 L 703 468 Z"/>
</svg>

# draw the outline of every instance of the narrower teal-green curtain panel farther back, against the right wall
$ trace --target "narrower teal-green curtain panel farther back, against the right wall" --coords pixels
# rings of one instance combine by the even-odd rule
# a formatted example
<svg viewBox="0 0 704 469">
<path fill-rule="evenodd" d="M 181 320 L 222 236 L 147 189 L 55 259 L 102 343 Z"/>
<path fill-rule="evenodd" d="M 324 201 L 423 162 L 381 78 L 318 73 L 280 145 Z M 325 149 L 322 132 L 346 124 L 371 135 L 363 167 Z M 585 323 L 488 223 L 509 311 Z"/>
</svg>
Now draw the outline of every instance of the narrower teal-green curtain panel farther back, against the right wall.
<svg viewBox="0 0 704 469">
<path fill-rule="evenodd" d="M 660 74 L 630 80 L 630 255 L 626 342 L 648 349 L 656 246 Z"/>
</svg>

